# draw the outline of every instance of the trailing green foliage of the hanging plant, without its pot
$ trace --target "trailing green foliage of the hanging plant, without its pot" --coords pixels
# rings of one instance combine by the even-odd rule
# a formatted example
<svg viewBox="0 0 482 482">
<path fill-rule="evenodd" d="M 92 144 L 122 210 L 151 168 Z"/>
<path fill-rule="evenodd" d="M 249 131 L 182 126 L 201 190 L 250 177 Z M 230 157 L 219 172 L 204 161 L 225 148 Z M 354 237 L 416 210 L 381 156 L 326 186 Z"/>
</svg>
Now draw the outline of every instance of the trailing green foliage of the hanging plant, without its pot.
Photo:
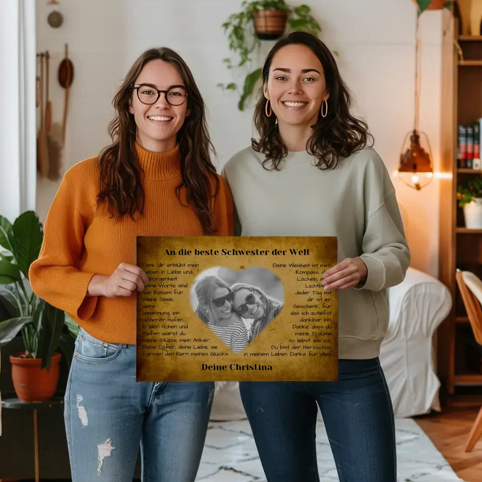
<svg viewBox="0 0 482 482">
<path fill-rule="evenodd" d="M 229 57 L 223 59 L 223 63 L 226 64 L 228 69 L 243 68 L 246 64 L 250 65 L 253 61 L 253 53 L 256 49 L 259 50 L 261 46 L 261 41 L 255 35 L 253 27 L 253 13 L 256 10 L 286 10 L 288 13 L 287 23 L 291 30 L 303 30 L 316 36 L 321 32 L 321 27 L 311 15 L 311 9 L 307 5 L 299 5 L 292 8 L 285 0 L 261 0 L 258 2 L 245 0 L 241 7 L 242 10 L 240 12 L 231 14 L 227 21 L 222 24 L 229 42 L 229 50 L 238 59 L 237 61 L 233 61 Z M 237 104 L 239 110 L 244 109 L 246 101 L 261 79 L 261 68 L 249 70 L 250 72 L 245 77 L 242 89 L 235 82 L 217 84 L 223 90 L 235 90 L 239 93 Z"/>
</svg>

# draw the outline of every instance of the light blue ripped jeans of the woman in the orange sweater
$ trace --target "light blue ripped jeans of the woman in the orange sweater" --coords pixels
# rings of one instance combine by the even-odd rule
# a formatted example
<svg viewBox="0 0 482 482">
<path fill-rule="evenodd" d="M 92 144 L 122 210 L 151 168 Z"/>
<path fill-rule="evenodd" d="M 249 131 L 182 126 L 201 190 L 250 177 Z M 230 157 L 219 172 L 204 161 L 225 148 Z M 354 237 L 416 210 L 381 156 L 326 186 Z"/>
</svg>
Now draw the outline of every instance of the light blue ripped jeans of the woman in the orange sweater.
<svg viewBox="0 0 482 482">
<path fill-rule="evenodd" d="M 214 383 L 136 382 L 136 345 L 80 330 L 65 393 L 72 482 L 132 482 L 141 447 L 143 482 L 192 482 Z"/>
</svg>

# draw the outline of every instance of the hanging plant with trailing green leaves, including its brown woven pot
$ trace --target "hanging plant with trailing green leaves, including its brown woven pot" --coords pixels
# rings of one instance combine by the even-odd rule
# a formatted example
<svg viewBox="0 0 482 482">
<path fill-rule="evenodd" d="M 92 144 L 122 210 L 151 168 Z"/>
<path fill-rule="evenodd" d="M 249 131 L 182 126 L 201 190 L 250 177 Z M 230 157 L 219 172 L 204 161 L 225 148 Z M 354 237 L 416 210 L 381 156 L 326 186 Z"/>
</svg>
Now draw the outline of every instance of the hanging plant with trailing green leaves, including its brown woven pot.
<svg viewBox="0 0 482 482">
<path fill-rule="evenodd" d="M 259 49 L 261 40 L 274 40 L 284 34 L 286 25 L 291 30 L 304 30 L 318 35 L 321 28 L 311 15 L 307 5 L 290 7 L 285 0 L 260 0 L 258 2 L 244 1 L 240 12 L 231 14 L 222 24 L 229 42 L 229 50 L 238 56 L 235 63 L 230 58 L 223 59 L 228 69 L 243 67 L 252 61 L 251 55 Z M 253 93 L 255 86 L 261 79 L 261 68 L 251 70 L 246 75 L 243 89 L 239 89 L 235 82 L 218 83 L 223 90 L 236 90 L 239 93 L 237 107 L 243 110 L 246 101 Z"/>
</svg>

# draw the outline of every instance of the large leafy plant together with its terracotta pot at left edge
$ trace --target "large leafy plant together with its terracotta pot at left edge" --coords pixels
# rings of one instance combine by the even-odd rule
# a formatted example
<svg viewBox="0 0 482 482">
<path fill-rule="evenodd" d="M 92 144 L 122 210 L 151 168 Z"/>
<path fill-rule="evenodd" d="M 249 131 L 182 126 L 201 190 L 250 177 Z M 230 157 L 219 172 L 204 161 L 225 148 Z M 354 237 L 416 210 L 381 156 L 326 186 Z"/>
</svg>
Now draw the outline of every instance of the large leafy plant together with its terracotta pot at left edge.
<svg viewBox="0 0 482 482">
<path fill-rule="evenodd" d="M 10 356 L 12 380 L 24 401 L 50 399 L 57 388 L 60 347 L 70 365 L 78 326 L 62 310 L 40 299 L 28 282 L 31 263 L 38 258 L 43 227 L 34 211 L 13 224 L 0 216 L 0 303 L 10 318 L 0 322 L 0 347 L 22 333 L 24 352 Z"/>
</svg>

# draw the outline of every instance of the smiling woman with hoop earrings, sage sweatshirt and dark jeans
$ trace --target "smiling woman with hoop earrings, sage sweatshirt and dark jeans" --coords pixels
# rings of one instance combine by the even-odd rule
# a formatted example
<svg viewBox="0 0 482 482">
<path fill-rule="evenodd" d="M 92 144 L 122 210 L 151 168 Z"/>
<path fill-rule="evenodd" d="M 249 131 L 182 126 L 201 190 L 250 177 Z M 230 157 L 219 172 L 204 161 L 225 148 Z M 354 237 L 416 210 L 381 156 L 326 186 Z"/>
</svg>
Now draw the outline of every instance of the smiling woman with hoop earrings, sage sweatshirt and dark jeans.
<svg viewBox="0 0 482 482">
<path fill-rule="evenodd" d="M 394 416 L 378 358 L 386 289 L 410 264 L 395 190 L 323 42 L 306 32 L 281 38 L 262 76 L 259 139 L 223 169 L 235 233 L 337 236 L 338 264 L 322 284 L 339 290 L 337 381 L 239 384 L 263 469 L 268 482 L 319 482 L 319 408 L 340 482 L 396 482 Z"/>
</svg>

